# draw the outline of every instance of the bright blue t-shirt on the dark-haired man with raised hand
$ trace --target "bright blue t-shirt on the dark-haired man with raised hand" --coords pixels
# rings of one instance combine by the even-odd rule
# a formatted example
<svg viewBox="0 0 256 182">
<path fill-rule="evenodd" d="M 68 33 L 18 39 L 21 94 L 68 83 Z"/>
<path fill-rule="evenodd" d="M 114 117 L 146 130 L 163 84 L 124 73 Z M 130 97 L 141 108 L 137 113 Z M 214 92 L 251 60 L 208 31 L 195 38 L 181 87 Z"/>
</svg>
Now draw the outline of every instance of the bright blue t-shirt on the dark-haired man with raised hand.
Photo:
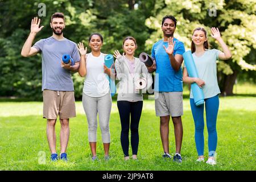
<svg viewBox="0 0 256 182">
<path fill-rule="evenodd" d="M 176 38 L 174 41 L 174 56 L 176 54 L 183 55 L 185 52 L 184 44 Z M 172 68 L 170 58 L 163 45 L 168 47 L 168 42 L 163 42 L 163 39 L 159 40 L 153 45 L 151 51 L 151 56 L 156 61 L 154 89 L 156 92 L 182 92 L 182 69 L 180 67 L 179 71 L 175 71 Z"/>
</svg>

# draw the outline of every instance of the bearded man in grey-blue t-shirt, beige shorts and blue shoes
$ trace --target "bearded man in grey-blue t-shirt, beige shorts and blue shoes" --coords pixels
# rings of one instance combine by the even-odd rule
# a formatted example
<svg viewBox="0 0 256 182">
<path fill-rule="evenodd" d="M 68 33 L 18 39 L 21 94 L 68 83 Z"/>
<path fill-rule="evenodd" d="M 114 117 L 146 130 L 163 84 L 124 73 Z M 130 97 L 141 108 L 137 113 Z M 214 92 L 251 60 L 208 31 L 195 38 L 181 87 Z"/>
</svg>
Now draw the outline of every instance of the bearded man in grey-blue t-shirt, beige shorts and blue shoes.
<svg viewBox="0 0 256 182">
<path fill-rule="evenodd" d="M 42 53 L 42 91 L 43 117 L 47 119 L 47 139 L 51 151 L 51 160 L 58 160 L 56 152 L 55 124 L 59 115 L 60 129 L 60 159 L 67 160 L 69 139 L 69 118 L 76 117 L 74 86 L 71 71 L 79 69 L 80 55 L 77 46 L 71 40 L 64 38 L 65 20 L 63 13 L 55 13 L 51 17 L 52 36 L 41 39 L 32 46 L 36 34 L 44 26 L 39 27 L 40 19 L 32 19 L 31 32 L 22 48 L 24 57 Z M 62 56 L 68 54 L 75 62 L 71 65 L 63 63 Z"/>
</svg>

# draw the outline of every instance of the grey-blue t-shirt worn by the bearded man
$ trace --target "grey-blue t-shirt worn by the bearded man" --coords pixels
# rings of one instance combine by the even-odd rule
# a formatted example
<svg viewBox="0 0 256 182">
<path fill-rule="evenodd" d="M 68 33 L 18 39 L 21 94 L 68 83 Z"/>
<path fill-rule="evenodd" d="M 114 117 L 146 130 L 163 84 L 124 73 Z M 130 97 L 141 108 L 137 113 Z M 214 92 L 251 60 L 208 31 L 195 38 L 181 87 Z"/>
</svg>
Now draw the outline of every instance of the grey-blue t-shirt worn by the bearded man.
<svg viewBox="0 0 256 182">
<path fill-rule="evenodd" d="M 33 47 L 42 52 L 42 91 L 44 89 L 73 91 L 71 71 L 61 67 L 61 58 L 64 54 L 68 54 L 75 63 L 80 61 L 76 43 L 66 38 L 56 40 L 51 36 L 39 40 Z"/>
</svg>

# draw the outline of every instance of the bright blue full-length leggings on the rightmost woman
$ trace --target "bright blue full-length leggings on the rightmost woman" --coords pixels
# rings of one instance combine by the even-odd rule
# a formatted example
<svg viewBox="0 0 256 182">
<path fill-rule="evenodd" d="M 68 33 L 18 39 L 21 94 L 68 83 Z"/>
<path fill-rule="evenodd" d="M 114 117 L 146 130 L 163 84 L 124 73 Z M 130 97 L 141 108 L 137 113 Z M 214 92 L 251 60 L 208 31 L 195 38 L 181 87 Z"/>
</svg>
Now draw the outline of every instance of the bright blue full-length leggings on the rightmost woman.
<svg viewBox="0 0 256 182">
<path fill-rule="evenodd" d="M 209 156 L 214 156 L 217 147 L 216 121 L 219 105 L 218 95 L 205 99 Z M 204 155 L 204 105 L 196 106 L 193 98 L 191 98 L 190 106 L 195 122 L 196 150 L 200 156 Z"/>
</svg>

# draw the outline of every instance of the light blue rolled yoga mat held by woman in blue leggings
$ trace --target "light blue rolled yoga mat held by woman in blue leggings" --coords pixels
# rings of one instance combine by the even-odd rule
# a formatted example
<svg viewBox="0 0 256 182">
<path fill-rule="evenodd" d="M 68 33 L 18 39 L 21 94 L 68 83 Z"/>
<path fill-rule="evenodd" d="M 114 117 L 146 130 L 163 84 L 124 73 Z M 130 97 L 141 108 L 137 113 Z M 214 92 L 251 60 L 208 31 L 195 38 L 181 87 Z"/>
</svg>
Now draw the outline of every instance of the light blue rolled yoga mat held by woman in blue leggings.
<svg viewBox="0 0 256 182">
<path fill-rule="evenodd" d="M 186 65 L 187 71 L 188 71 L 188 76 L 189 77 L 199 77 L 197 70 L 196 70 L 196 65 L 193 60 L 193 56 L 191 51 L 187 51 L 183 53 L 183 59 L 184 63 Z M 196 106 L 200 106 L 204 104 L 204 93 L 203 90 L 194 82 L 191 84 L 191 89 L 194 97 L 194 101 Z"/>
</svg>

